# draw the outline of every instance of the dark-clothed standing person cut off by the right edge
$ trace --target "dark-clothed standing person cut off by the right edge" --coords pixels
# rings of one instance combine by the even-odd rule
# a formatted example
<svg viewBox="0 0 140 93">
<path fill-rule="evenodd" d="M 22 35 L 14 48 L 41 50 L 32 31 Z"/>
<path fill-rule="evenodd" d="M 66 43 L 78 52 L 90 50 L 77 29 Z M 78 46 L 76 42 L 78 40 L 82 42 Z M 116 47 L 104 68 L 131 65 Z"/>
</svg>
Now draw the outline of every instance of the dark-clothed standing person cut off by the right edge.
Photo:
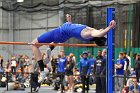
<svg viewBox="0 0 140 93">
<path fill-rule="evenodd" d="M 136 55 L 134 67 L 135 67 L 137 82 L 139 82 L 139 77 L 140 77 L 140 55 L 139 54 Z"/>
</svg>

